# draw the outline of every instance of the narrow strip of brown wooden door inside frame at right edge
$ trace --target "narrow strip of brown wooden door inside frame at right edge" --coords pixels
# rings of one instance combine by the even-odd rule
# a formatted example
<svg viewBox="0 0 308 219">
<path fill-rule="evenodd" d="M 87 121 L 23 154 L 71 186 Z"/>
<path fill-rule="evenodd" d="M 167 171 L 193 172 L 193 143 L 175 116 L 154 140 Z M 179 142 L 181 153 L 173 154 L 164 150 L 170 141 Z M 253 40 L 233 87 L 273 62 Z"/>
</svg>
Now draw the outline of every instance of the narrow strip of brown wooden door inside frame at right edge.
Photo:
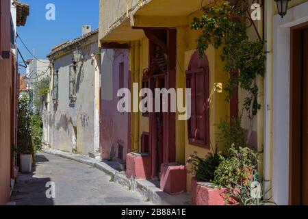
<svg viewBox="0 0 308 219">
<path fill-rule="evenodd" d="M 308 205 L 308 29 L 303 31 L 303 99 L 302 99 L 302 204 Z"/>
</svg>

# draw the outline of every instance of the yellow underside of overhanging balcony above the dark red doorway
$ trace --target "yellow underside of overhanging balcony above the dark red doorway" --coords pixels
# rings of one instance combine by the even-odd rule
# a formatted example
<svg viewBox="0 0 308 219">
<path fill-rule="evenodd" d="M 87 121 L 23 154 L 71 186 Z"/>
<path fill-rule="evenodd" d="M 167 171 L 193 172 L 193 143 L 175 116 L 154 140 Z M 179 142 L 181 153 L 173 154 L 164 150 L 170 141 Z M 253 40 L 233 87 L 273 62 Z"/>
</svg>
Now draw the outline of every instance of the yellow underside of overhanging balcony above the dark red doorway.
<svg viewBox="0 0 308 219">
<path fill-rule="evenodd" d="M 204 0 L 206 4 L 208 0 Z M 100 36 L 103 42 L 125 43 L 144 38 L 142 27 L 175 28 L 188 26 L 188 16 L 201 10 L 201 1 L 152 0 L 135 5 Z"/>
</svg>

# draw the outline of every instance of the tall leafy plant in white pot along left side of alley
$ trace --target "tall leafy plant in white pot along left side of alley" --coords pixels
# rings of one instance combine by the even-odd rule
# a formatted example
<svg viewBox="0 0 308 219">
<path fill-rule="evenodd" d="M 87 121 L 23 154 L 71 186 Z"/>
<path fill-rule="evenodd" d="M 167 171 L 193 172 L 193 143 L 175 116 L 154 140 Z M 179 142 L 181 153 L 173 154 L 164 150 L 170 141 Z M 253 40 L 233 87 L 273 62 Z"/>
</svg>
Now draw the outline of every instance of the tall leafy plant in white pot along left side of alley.
<svg viewBox="0 0 308 219">
<path fill-rule="evenodd" d="M 33 144 L 31 139 L 31 113 L 29 96 L 23 94 L 18 100 L 18 140 L 16 151 L 21 161 L 21 172 L 31 172 Z"/>
</svg>

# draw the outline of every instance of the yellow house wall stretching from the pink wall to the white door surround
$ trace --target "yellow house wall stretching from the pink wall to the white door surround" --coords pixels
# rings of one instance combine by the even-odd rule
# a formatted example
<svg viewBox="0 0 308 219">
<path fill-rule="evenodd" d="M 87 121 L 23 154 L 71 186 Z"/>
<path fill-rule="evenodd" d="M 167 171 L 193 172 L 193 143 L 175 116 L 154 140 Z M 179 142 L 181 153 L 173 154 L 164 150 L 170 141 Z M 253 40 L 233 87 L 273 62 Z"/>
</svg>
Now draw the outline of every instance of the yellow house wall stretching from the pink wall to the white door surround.
<svg viewBox="0 0 308 219">
<path fill-rule="evenodd" d="M 294 5 L 298 5 L 299 3 L 303 3 L 303 0 L 294 0 L 290 2 L 290 8 L 294 7 Z M 273 4 L 274 3 L 273 1 Z M 276 5 L 274 5 L 273 14 L 277 12 Z M 192 18 L 194 16 L 201 16 L 201 12 L 196 11 L 188 16 L 188 24 L 192 22 Z M 263 36 L 263 21 L 255 21 L 259 34 Z M 176 27 L 177 28 L 177 88 L 185 88 L 185 70 L 188 69 L 188 64 L 190 62 L 190 57 L 194 53 L 196 49 L 196 39 L 198 38 L 200 32 L 191 30 L 189 25 L 185 27 Z M 251 40 L 257 39 L 257 34 L 255 29 L 251 27 L 248 29 L 248 36 Z M 146 38 L 140 39 L 140 58 L 139 58 L 139 70 L 140 77 L 136 77 L 136 74 L 133 74 L 133 81 L 139 81 L 141 88 L 141 80 L 142 80 L 142 71 L 144 68 L 148 68 L 149 63 L 149 40 Z M 135 43 L 135 42 L 133 42 Z M 133 45 L 135 47 L 136 45 Z M 136 57 L 136 51 L 131 52 L 131 59 Z M 209 59 L 209 81 L 210 81 L 210 89 L 213 88 L 214 83 L 221 82 L 222 86 L 224 86 L 227 82 L 229 75 L 224 73 L 222 70 L 222 62 L 220 61 L 220 53 L 216 51 L 214 48 L 210 47 L 207 51 L 207 57 Z M 138 62 L 137 62 L 138 63 Z M 131 61 L 131 70 L 135 71 L 136 62 L 135 60 Z M 259 151 L 263 151 L 264 144 L 264 79 L 259 77 L 257 79 L 257 84 L 259 86 L 259 103 L 262 104 L 261 110 L 259 110 L 257 116 L 253 120 L 253 131 L 257 131 L 257 149 Z M 210 106 L 210 141 L 212 146 L 216 146 L 216 138 L 215 134 L 218 132 L 216 128 L 216 124 L 219 123 L 220 119 L 226 118 L 229 116 L 229 103 L 224 101 L 226 97 L 225 93 L 222 94 L 214 94 L 213 101 Z M 239 91 L 239 108 L 241 109 L 244 98 L 246 97 L 245 92 L 242 90 Z M 133 123 L 133 117 L 138 116 L 138 125 L 136 127 L 136 123 Z M 176 146 L 177 146 L 177 162 L 181 164 L 185 164 L 185 161 L 188 157 L 193 154 L 195 151 L 198 155 L 205 157 L 209 152 L 208 149 L 202 149 L 197 146 L 190 145 L 188 143 L 188 128 L 187 122 L 176 120 Z M 247 115 L 244 114 L 242 126 L 245 129 L 249 128 L 249 120 Z M 143 117 L 142 114 L 132 114 L 131 120 L 132 127 L 132 144 L 136 144 L 136 141 L 140 141 L 140 136 L 142 132 L 149 132 L 149 118 Z M 136 135 L 134 136 L 134 132 L 138 132 L 138 138 Z M 139 149 L 139 147 L 138 147 Z M 260 173 L 262 172 L 262 162 L 260 165 Z M 188 189 L 190 188 L 190 179 L 191 175 L 188 175 Z"/>
</svg>

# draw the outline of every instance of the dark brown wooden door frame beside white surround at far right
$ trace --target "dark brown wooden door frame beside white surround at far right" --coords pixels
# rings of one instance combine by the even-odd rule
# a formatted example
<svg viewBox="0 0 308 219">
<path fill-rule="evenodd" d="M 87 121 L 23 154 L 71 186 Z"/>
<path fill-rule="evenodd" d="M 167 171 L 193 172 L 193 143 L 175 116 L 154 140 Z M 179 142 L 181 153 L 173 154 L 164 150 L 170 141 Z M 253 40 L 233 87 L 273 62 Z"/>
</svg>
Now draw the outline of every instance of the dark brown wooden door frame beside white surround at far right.
<svg viewBox="0 0 308 219">
<path fill-rule="evenodd" d="M 308 22 L 296 25 L 290 29 L 290 204 L 300 205 L 302 190 L 302 99 L 303 99 L 303 48 L 302 32 L 308 29 Z M 300 86 L 298 86 L 300 84 Z"/>
</svg>

